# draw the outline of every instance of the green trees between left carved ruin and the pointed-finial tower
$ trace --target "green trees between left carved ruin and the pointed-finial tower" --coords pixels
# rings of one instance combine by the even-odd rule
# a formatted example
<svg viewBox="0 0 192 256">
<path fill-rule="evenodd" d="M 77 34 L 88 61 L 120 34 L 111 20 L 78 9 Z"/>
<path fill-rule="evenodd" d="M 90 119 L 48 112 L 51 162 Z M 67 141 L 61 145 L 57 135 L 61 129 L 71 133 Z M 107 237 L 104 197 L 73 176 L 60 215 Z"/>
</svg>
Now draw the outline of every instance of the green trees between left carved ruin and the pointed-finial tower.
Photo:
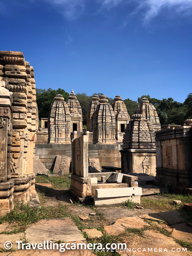
<svg viewBox="0 0 192 256">
<path fill-rule="evenodd" d="M 40 94 L 36 96 L 39 119 L 48 118 L 50 105 L 53 103 L 54 97 L 57 94 L 61 94 L 64 97 L 65 101 L 68 101 L 69 94 L 63 89 L 59 88 L 57 90 L 52 90 L 51 88 L 49 88 L 48 90 L 45 90 L 45 89 L 36 89 L 36 90 L 43 90 L 43 92 L 38 91 L 38 93 Z"/>
</svg>

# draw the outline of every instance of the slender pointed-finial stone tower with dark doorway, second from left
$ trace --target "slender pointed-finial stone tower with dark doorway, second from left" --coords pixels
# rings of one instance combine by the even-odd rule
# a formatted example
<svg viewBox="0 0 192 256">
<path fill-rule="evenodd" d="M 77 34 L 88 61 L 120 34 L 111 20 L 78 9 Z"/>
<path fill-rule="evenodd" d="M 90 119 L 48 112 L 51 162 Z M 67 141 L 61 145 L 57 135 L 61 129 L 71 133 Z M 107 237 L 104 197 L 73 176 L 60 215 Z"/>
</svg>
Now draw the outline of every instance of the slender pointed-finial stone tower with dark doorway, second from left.
<svg viewBox="0 0 192 256">
<path fill-rule="evenodd" d="M 71 117 L 71 132 L 82 132 L 82 110 L 73 90 L 70 93 L 67 105 Z"/>
</svg>

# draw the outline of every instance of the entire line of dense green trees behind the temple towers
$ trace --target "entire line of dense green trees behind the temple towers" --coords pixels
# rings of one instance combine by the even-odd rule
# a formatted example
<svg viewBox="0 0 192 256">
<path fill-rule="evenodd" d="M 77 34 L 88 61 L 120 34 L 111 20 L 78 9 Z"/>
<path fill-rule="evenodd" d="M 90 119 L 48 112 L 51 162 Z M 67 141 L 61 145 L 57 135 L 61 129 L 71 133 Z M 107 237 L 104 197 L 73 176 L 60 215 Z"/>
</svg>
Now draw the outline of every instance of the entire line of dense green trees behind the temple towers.
<svg viewBox="0 0 192 256">
<path fill-rule="evenodd" d="M 57 94 L 62 94 L 65 98 L 65 101 L 68 101 L 69 94 L 63 89 L 52 90 L 49 89 L 36 89 L 37 95 L 37 105 L 39 111 L 39 119 L 48 117 L 49 108 L 51 103 L 54 101 L 54 97 Z M 102 93 L 95 93 L 98 96 L 101 96 Z M 94 94 L 93 94 L 94 95 Z M 83 116 L 83 125 L 86 125 L 87 118 L 87 109 L 89 107 L 89 103 L 92 100 L 92 96 L 87 96 L 86 93 L 77 93 L 76 97 L 79 101 L 82 108 L 82 116 Z M 161 125 L 165 124 L 183 124 L 184 121 L 188 118 L 192 118 L 192 93 L 190 93 L 186 100 L 181 103 L 174 101 L 173 98 L 158 100 L 156 98 L 151 98 L 150 95 L 142 95 L 138 98 L 137 101 L 132 101 L 129 98 L 124 100 L 124 103 L 127 107 L 127 111 L 129 116 L 131 117 L 137 106 L 139 105 L 142 98 L 148 98 L 149 103 L 152 103 L 159 116 L 159 120 Z M 113 98 L 107 98 L 108 103 L 112 105 Z"/>
</svg>

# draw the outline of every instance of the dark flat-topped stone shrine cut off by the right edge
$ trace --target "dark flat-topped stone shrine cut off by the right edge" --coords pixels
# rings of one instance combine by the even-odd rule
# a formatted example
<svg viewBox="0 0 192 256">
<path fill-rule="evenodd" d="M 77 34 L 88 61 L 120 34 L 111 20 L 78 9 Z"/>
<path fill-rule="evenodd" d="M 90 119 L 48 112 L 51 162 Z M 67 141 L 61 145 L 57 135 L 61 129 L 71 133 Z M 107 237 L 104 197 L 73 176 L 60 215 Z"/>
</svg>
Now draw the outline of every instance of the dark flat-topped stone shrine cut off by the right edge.
<svg viewBox="0 0 192 256">
<path fill-rule="evenodd" d="M 192 188 L 192 119 L 169 127 L 155 132 L 156 185 L 167 183 L 172 191 L 183 193 Z"/>
</svg>

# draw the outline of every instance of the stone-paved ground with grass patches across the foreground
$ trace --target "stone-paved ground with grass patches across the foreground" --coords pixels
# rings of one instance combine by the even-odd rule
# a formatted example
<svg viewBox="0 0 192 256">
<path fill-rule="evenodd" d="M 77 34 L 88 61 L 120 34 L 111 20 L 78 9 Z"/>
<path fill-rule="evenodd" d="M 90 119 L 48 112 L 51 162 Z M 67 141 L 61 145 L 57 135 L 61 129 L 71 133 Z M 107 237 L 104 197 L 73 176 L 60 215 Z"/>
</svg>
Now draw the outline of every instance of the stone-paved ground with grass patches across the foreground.
<svg viewBox="0 0 192 256">
<path fill-rule="evenodd" d="M 137 209 L 129 202 L 117 207 L 95 208 L 94 205 L 76 203 L 69 194 L 68 177 L 59 179 L 37 177 L 36 191 L 41 208 L 34 207 L 38 202 L 31 203 L 31 206 L 16 205 L 15 212 L 0 218 L 2 256 L 192 255 L 192 213 L 183 208 L 184 203 L 192 202 L 191 196 L 173 193 L 144 196 L 141 198 L 143 209 Z M 173 200 L 181 203 L 174 204 Z M 21 251 L 16 249 L 15 243 L 20 240 L 34 244 L 43 240 L 76 244 L 100 242 L 103 247 L 107 243 L 126 243 L 129 250 L 60 252 L 57 248 L 24 248 Z M 13 242 L 11 250 L 5 250 L 6 241 Z M 153 248 L 153 251 L 148 251 L 148 248 Z M 187 248 L 187 251 L 182 251 L 182 248 Z"/>
</svg>

